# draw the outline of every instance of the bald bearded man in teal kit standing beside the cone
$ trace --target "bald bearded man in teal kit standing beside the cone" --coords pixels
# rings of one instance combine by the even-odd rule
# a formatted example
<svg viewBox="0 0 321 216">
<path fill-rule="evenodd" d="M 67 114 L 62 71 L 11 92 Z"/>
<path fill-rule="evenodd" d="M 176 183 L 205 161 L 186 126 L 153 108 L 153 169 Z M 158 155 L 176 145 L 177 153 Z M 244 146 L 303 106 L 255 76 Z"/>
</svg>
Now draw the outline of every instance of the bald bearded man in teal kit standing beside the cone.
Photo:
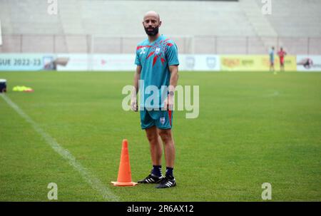
<svg viewBox="0 0 321 216">
<path fill-rule="evenodd" d="M 146 131 L 153 169 L 150 175 L 138 183 L 158 183 L 156 188 L 167 188 L 176 185 L 173 175 L 175 147 L 171 128 L 179 62 L 176 44 L 158 33 L 161 24 L 160 16 L 155 11 L 148 11 L 143 17 L 143 27 L 148 38 L 138 43 L 136 48 L 137 67 L 131 108 L 138 110 L 136 93 L 139 88 L 141 128 Z M 161 163 L 162 143 L 166 161 L 165 177 Z"/>
</svg>

